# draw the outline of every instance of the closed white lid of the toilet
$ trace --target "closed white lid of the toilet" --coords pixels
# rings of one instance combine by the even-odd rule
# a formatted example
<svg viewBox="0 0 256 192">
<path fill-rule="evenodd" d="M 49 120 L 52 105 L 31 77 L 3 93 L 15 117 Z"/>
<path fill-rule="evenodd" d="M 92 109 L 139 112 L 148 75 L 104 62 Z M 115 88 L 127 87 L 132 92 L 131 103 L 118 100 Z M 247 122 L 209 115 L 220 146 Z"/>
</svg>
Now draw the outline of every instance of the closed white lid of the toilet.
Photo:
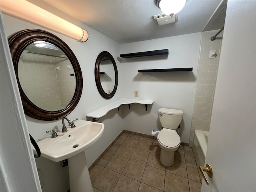
<svg viewBox="0 0 256 192">
<path fill-rule="evenodd" d="M 180 144 L 180 136 L 176 131 L 162 130 L 157 138 L 166 147 L 176 147 Z"/>
</svg>

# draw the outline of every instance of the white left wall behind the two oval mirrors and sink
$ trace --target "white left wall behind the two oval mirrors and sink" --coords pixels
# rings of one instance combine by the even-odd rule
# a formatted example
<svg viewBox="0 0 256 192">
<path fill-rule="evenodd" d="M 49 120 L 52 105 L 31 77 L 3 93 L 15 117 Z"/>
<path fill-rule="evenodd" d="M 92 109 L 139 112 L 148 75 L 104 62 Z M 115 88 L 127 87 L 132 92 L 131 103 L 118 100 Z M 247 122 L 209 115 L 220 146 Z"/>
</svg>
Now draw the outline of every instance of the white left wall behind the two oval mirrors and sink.
<svg viewBox="0 0 256 192">
<path fill-rule="evenodd" d="M 63 16 L 65 15 L 63 14 Z M 6 14 L 3 14 L 3 21 L 4 21 L 4 28 L 5 28 L 7 37 L 20 30 L 29 29 L 29 28 L 38 28 L 38 29 L 47 30 L 47 29 L 38 27 L 36 25 L 30 24 L 28 22 L 19 20 L 17 18 L 8 16 Z M 61 38 L 64 42 L 66 42 L 66 44 L 68 44 L 68 46 L 71 48 L 71 50 L 76 55 L 76 58 L 78 59 L 78 62 L 82 70 L 82 75 L 83 75 L 83 92 L 78 105 L 68 115 L 68 118 L 70 118 L 70 120 L 74 120 L 76 118 L 80 120 L 86 120 L 86 114 L 121 98 L 122 92 L 121 92 L 120 85 L 122 84 L 122 81 L 120 79 L 119 79 L 120 85 L 117 88 L 116 94 L 110 100 L 106 100 L 102 98 L 102 96 L 100 96 L 94 80 L 95 61 L 98 54 L 102 51 L 107 50 L 108 52 L 110 52 L 110 54 L 112 54 L 112 56 L 116 60 L 117 68 L 118 70 L 120 70 L 120 63 L 116 59 L 119 56 L 119 44 L 117 42 L 114 42 L 110 38 L 100 34 L 99 32 L 93 30 L 92 28 L 82 23 L 79 23 L 77 20 L 74 20 L 74 19 L 72 20 L 72 18 L 69 18 L 69 21 L 71 22 L 73 21 L 73 23 L 77 25 L 80 24 L 81 27 L 88 30 L 89 39 L 87 42 L 80 43 L 72 38 L 68 38 L 56 32 L 52 32 L 50 30 L 47 30 L 47 31 L 52 32 L 53 34 Z M 2 106 L 1 106 L 1 109 L 2 109 Z M 92 162 L 96 160 L 96 158 L 123 130 L 122 114 L 120 113 L 121 112 L 114 112 L 114 113 L 110 112 L 105 116 L 105 118 L 101 118 L 98 121 L 105 124 L 105 131 L 101 139 L 98 140 L 98 142 L 96 142 L 94 145 L 92 145 L 90 148 L 86 150 L 86 159 L 87 159 L 88 166 L 90 166 Z M 88 120 L 92 120 L 92 119 L 88 119 Z M 46 133 L 46 130 L 62 129 L 61 120 L 41 121 L 41 120 L 36 120 L 36 119 L 30 118 L 29 116 L 26 116 L 26 122 L 28 125 L 28 131 L 36 141 L 48 136 L 48 133 Z M 62 169 L 66 169 L 66 168 L 62 168 L 60 166 L 60 163 L 54 163 L 41 157 L 40 162 L 37 162 L 37 167 L 44 172 L 45 178 L 52 178 L 51 172 L 48 171 L 49 167 L 54 168 L 52 172 L 59 173 L 55 175 L 55 178 L 52 178 L 51 180 L 48 180 L 48 179 L 46 180 L 47 182 L 44 183 L 43 191 L 65 192 L 68 190 L 69 188 L 68 182 L 64 182 L 68 179 L 68 172 L 66 172 L 66 174 L 63 174 Z"/>
</svg>

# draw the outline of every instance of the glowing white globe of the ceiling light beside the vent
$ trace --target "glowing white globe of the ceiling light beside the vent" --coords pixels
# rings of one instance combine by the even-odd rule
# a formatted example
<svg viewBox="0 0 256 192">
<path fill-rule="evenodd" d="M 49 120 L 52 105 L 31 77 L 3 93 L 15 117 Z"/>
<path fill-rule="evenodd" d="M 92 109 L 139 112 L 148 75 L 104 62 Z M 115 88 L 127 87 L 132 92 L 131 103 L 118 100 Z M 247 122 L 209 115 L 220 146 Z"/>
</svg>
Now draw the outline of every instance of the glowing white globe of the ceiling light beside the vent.
<svg viewBox="0 0 256 192">
<path fill-rule="evenodd" d="M 180 12 L 185 6 L 186 0 L 156 0 L 156 5 L 161 11 L 170 16 Z"/>
</svg>

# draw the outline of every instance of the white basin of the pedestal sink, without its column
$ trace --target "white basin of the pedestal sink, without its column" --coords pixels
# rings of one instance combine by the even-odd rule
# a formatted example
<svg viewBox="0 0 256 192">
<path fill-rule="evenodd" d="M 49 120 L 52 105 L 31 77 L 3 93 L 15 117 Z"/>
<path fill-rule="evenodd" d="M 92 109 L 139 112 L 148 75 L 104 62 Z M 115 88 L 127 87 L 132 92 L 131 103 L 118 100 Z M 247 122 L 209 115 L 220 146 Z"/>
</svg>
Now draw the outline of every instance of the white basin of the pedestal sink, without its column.
<svg viewBox="0 0 256 192">
<path fill-rule="evenodd" d="M 94 144 L 104 132 L 104 124 L 79 120 L 75 128 L 57 132 L 58 137 L 51 135 L 38 141 L 41 156 L 59 162 L 79 154 Z"/>
</svg>

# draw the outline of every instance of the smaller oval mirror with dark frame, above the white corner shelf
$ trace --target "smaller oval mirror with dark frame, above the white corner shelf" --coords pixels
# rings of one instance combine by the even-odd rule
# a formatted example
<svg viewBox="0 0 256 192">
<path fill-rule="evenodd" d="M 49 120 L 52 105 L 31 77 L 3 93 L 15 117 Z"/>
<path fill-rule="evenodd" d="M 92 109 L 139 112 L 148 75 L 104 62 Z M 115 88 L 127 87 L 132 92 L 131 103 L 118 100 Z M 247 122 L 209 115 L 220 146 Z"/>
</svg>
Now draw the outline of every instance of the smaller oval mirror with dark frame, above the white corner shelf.
<svg viewBox="0 0 256 192">
<path fill-rule="evenodd" d="M 118 84 L 118 72 L 113 56 L 107 52 L 101 52 L 95 63 L 95 81 L 101 96 L 109 99 L 114 96 Z"/>
</svg>

